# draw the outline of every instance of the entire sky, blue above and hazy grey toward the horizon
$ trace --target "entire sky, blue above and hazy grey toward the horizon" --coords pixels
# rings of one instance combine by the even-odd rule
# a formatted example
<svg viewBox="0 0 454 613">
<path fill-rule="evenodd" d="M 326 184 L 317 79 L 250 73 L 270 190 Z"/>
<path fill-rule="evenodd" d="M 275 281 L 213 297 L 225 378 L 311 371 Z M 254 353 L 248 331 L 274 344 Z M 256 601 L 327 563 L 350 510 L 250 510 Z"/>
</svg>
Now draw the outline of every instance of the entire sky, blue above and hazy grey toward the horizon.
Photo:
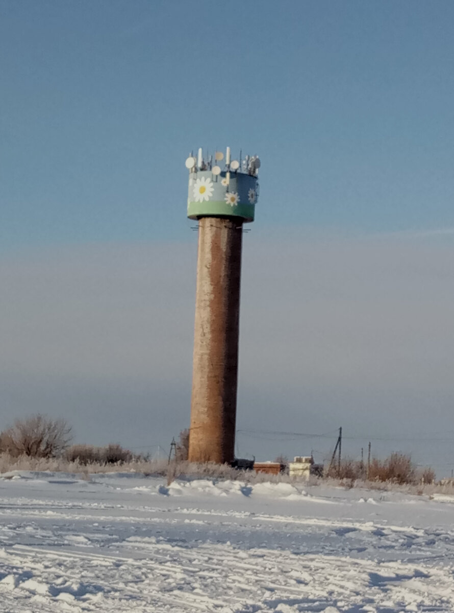
<svg viewBox="0 0 454 613">
<path fill-rule="evenodd" d="M 155 453 L 188 426 L 184 161 L 229 145 L 262 161 L 237 453 L 321 460 L 342 426 L 351 457 L 450 474 L 453 24 L 450 1 L 0 0 L 0 428 L 40 411 Z"/>
</svg>

